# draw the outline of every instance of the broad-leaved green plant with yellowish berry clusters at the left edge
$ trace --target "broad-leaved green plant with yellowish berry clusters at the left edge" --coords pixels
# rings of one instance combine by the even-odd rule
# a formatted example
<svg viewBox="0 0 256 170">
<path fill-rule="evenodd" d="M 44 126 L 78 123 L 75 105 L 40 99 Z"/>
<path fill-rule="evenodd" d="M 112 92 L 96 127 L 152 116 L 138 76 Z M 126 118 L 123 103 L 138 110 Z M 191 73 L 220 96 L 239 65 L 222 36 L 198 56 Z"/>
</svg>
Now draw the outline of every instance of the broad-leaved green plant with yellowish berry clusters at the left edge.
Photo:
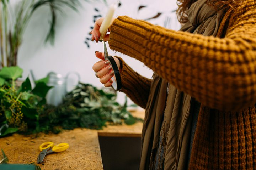
<svg viewBox="0 0 256 170">
<path fill-rule="evenodd" d="M 41 79 L 32 89 L 28 78 L 17 87 L 15 80 L 22 71 L 19 67 L 4 67 L 0 71 L 0 137 L 38 129 L 39 111 L 51 87 L 46 85 L 47 79 Z"/>
</svg>

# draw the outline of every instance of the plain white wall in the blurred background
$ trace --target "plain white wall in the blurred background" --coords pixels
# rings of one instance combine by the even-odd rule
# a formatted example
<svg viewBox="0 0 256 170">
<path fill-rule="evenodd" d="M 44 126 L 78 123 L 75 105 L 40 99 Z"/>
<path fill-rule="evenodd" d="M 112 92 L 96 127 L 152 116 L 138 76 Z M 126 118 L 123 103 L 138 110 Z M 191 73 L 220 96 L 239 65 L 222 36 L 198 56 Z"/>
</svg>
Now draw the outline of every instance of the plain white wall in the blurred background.
<svg viewBox="0 0 256 170">
<path fill-rule="evenodd" d="M 92 65 L 98 61 L 95 57 L 95 51 L 103 51 L 103 44 L 89 41 L 89 49 L 84 44 L 90 32 L 90 26 L 94 25 L 93 16 L 97 14 L 94 8 L 97 7 L 103 16 L 107 11 L 107 5 L 102 1 L 82 2 L 78 13 L 66 8 L 64 14 L 58 15 L 54 46 L 49 45 L 49 43 L 44 44 L 44 38 L 49 27 L 50 11 L 46 7 L 39 8 L 28 23 L 18 53 L 18 66 L 24 70 L 22 79 L 28 76 L 29 70 L 33 70 L 37 79 L 45 77 L 50 71 L 63 75 L 70 71 L 76 71 L 81 75 L 82 82 L 103 87 L 92 70 Z M 108 0 L 107 2 L 111 4 L 115 1 Z M 166 16 L 169 16 L 171 17 L 169 28 L 174 30 L 180 28 L 176 14 L 170 12 L 177 8 L 175 0 L 121 0 L 121 3 L 121 7 L 116 11 L 116 16 L 127 15 L 135 19 L 146 19 L 158 12 L 163 12 L 159 18 L 152 19 L 150 22 L 163 26 Z M 147 7 L 138 12 L 140 5 Z M 143 63 L 111 50 L 108 52 L 110 55 L 123 57 L 133 69 L 145 77 L 151 78 L 153 72 Z M 118 101 L 123 103 L 124 94 L 118 93 Z"/>
</svg>

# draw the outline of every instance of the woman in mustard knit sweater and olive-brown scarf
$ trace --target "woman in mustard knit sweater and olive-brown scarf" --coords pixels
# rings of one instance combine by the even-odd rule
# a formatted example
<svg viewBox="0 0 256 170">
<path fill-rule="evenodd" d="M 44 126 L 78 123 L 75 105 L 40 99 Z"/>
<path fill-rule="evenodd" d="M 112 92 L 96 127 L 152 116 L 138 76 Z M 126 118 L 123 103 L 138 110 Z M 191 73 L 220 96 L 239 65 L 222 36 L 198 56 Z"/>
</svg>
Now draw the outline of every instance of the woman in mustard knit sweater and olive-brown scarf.
<svg viewBox="0 0 256 170">
<path fill-rule="evenodd" d="M 256 1 L 178 2 L 180 31 L 119 16 L 104 38 L 154 70 L 150 80 L 115 58 L 121 91 L 146 109 L 140 169 L 254 169 Z M 111 86 L 106 61 L 93 69 Z"/>
</svg>

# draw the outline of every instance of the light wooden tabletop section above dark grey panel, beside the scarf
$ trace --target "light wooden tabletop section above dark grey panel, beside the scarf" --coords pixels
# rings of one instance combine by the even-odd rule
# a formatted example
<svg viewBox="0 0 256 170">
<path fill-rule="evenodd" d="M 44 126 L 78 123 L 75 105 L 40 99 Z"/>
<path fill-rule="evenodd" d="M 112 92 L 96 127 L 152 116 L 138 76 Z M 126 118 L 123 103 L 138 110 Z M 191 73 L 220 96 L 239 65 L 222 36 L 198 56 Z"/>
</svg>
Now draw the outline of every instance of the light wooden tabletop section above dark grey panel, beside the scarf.
<svg viewBox="0 0 256 170">
<path fill-rule="evenodd" d="M 130 111 L 134 117 L 144 119 L 145 111 Z M 108 137 L 141 137 L 143 122 L 137 122 L 133 125 L 108 125 L 103 130 L 98 131 L 98 136 Z"/>
</svg>

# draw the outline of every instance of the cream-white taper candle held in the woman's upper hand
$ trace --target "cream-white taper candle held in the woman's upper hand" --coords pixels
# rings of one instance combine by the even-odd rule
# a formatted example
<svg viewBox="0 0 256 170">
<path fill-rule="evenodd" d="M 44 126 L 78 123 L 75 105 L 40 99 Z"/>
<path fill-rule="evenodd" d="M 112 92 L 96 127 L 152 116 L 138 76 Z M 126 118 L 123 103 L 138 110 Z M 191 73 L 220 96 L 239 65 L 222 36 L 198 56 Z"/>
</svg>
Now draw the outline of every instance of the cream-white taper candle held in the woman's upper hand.
<svg viewBox="0 0 256 170">
<path fill-rule="evenodd" d="M 101 36 L 100 36 L 99 40 L 103 40 L 104 36 L 107 34 L 107 30 L 110 27 L 110 24 L 111 24 L 113 15 L 114 15 L 114 11 L 116 10 L 116 7 L 117 6 L 115 4 L 110 5 L 110 7 L 108 9 L 108 12 L 107 12 L 107 15 L 103 19 L 103 22 L 102 22 L 101 27 L 99 29 L 100 33 L 101 33 Z"/>
</svg>

